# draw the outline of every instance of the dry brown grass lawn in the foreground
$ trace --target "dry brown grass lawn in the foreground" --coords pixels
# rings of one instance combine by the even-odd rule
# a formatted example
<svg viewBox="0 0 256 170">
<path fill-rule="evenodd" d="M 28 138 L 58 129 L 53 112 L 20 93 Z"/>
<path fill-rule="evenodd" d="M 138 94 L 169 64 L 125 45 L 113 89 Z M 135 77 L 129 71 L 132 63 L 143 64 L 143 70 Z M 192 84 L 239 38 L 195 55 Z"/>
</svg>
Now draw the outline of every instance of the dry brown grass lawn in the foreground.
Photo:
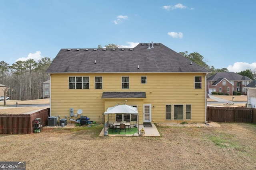
<svg viewBox="0 0 256 170">
<path fill-rule="evenodd" d="M 102 126 L 0 135 L 1 161 L 27 170 L 256 169 L 256 125 L 158 127 L 161 137 L 102 137 Z"/>
</svg>

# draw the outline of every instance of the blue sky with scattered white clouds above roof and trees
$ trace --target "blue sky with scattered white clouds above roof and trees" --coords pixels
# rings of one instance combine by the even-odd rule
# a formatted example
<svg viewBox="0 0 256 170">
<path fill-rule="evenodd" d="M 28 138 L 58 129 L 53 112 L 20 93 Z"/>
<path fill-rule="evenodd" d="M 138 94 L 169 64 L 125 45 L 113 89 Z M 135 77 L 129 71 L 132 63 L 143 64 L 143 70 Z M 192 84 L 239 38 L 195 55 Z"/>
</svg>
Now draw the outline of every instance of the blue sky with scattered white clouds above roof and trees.
<svg viewBox="0 0 256 170">
<path fill-rule="evenodd" d="M 162 43 L 209 66 L 256 68 L 255 0 L 0 0 L 0 61 L 62 48 Z"/>
</svg>

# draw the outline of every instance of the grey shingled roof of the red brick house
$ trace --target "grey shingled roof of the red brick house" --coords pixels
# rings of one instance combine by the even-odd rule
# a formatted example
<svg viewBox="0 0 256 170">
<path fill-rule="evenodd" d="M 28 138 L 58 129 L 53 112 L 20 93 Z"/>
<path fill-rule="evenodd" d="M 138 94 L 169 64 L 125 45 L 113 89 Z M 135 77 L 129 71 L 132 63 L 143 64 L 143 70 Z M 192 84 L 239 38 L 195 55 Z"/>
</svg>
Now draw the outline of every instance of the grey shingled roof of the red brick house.
<svg viewBox="0 0 256 170">
<path fill-rule="evenodd" d="M 252 80 L 247 76 L 242 76 L 235 72 L 217 72 L 207 78 L 207 81 L 217 81 L 219 78 L 226 78 L 229 81 L 237 81 L 237 80 Z"/>
</svg>

